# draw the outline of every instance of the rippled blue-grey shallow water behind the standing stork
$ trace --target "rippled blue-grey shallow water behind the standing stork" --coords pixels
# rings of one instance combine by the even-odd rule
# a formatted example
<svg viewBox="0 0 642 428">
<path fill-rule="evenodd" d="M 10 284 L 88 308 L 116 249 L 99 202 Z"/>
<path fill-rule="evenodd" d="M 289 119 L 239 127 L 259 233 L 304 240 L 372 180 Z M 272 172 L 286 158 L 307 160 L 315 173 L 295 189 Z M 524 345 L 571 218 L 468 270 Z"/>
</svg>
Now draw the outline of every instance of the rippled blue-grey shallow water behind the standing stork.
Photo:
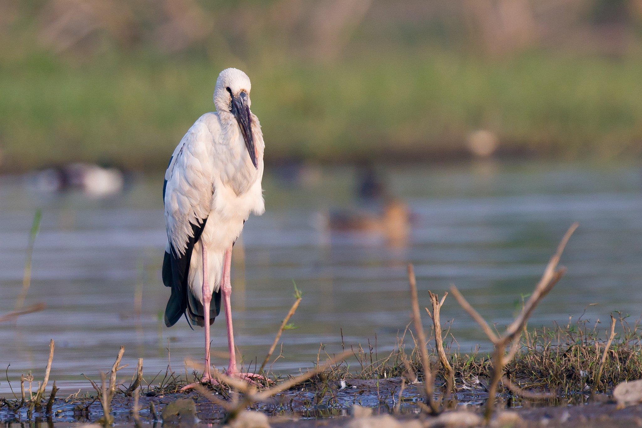
<svg viewBox="0 0 642 428">
<path fill-rule="evenodd" d="M 342 332 L 345 345 L 365 347 L 370 339 L 378 353 L 389 351 L 409 322 L 407 262 L 415 264 L 420 304 L 428 304 L 428 289 L 441 295 L 454 283 L 483 316 L 504 325 L 573 221 L 580 227 L 562 257 L 568 273 L 530 326 L 566 322 L 585 309 L 584 318 L 593 321 L 613 310 L 641 314 L 639 166 L 479 162 L 389 167 L 386 175 L 392 193 L 413 212 L 405 246 L 390 246 L 377 234 L 315 228 L 319 212 L 355 204 L 352 169 L 312 168 L 296 182 L 266 173 L 266 214 L 246 223 L 232 270 L 236 343 L 245 363 L 265 357 L 293 303 L 292 280 L 304 298 L 291 320 L 298 328 L 282 335 L 284 358 L 273 364 L 275 372 L 312 366 L 320 343 L 325 352 L 340 350 Z M 51 379 L 63 392 L 89 387 L 80 373 L 100 379 L 119 345 L 126 345 L 123 363 L 130 364 L 119 372 L 123 379 L 131 377 L 137 357 L 144 357 L 147 381 L 164 372 L 168 343 L 175 370 L 182 370 L 185 357 L 201 357 L 202 329 L 162 323 L 169 289 L 160 280 L 166 239 L 161 187 L 160 175 L 139 177 L 121 196 L 92 200 L 76 193 L 46 196 L 23 178 L 0 179 L 0 314 L 13 309 L 33 212 L 43 209 L 26 304 L 44 302 L 46 310 L 0 324 L 0 364 L 11 364 L 14 389 L 20 373 L 42 379 L 51 338 Z M 213 350 L 225 352 L 220 318 Z M 453 347 L 488 347 L 449 297 L 442 320 L 451 318 Z M 224 357 L 214 362 L 226 364 Z M 1 381 L 0 393 L 9 391 Z"/>
</svg>

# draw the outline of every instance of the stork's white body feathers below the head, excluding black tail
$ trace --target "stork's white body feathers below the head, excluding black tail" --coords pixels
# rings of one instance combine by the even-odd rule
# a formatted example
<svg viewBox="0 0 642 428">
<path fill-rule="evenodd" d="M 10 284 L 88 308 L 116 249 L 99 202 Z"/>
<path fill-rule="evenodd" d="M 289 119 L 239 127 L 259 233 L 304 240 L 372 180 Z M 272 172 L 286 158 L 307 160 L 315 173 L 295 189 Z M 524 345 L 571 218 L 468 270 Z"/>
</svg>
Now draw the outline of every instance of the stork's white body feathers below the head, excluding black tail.
<svg viewBox="0 0 642 428">
<path fill-rule="evenodd" d="M 221 123 L 224 121 L 236 124 L 236 119 L 229 113 L 201 116 L 174 150 L 165 173 L 165 221 L 168 245 L 173 244 L 178 253 L 185 253 L 187 237 L 193 236 L 191 224 L 207 218 L 201 239 L 205 239 L 208 255 L 212 256 L 211 263 L 217 256 L 222 260 L 250 213 L 260 216 L 265 211 L 261 189 L 263 135 L 256 116 L 252 119 L 256 124 L 252 128 L 259 152 L 258 169 L 252 165 L 238 125 L 237 129 L 227 126 L 228 132 L 223 131 L 225 128 Z M 191 262 L 200 264 L 200 258 L 198 242 Z M 195 270 L 190 268 L 190 278 Z M 209 272 L 210 284 L 215 284 L 213 291 L 217 291 L 220 268 Z M 193 284 L 192 280 L 189 282 Z"/>
</svg>

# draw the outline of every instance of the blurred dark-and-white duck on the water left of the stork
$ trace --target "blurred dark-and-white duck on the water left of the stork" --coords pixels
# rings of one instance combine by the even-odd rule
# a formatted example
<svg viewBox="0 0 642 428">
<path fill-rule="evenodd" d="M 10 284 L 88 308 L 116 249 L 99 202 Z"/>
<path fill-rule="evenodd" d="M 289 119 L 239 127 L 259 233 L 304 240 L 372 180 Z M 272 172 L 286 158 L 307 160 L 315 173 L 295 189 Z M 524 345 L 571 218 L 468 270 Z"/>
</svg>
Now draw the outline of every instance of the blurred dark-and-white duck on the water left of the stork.
<svg viewBox="0 0 642 428">
<path fill-rule="evenodd" d="M 42 192 L 80 190 L 87 196 L 101 198 L 123 190 L 125 176 L 116 168 L 79 162 L 39 171 L 34 176 L 34 184 Z"/>
</svg>

